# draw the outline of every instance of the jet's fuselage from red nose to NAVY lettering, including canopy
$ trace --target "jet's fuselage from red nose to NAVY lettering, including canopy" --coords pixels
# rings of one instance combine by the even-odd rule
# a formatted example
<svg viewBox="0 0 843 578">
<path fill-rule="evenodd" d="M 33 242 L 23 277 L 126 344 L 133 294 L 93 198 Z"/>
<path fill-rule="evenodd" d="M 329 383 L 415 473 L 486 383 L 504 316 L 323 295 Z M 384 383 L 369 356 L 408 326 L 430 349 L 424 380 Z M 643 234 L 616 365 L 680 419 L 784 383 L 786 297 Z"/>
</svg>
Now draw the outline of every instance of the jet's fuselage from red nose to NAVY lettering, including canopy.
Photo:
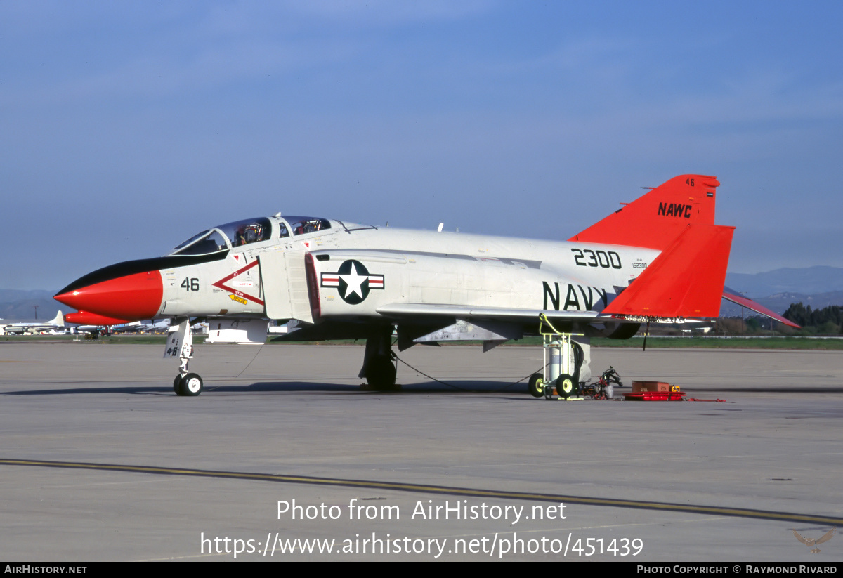
<svg viewBox="0 0 843 578">
<path fill-rule="evenodd" d="M 110 265 L 56 299 L 126 321 L 184 316 L 389 318 L 389 304 L 599 312 L 659 251 L 259 217 L 164 257 Z M 309 315 L 307 314 L 309 311 Z"/>
</svg>

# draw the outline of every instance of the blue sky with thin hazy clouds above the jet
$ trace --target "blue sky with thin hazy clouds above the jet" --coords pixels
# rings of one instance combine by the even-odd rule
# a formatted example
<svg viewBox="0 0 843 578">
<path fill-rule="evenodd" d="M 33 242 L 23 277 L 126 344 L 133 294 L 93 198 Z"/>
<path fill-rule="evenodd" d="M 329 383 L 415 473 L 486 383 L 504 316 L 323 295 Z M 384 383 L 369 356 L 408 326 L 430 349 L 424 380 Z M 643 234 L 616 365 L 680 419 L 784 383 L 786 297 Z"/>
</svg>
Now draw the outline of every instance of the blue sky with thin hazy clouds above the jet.
<svg viewBox="0 0 843 578">
<path fill-rule="evenodd" d="M 286 214 L 564 240 L 678 174 L 843 266 L 843 3 L 0 2 L 0 287 Z M 10 243 L 9 243 L 10 241 Z"/>
</svg>

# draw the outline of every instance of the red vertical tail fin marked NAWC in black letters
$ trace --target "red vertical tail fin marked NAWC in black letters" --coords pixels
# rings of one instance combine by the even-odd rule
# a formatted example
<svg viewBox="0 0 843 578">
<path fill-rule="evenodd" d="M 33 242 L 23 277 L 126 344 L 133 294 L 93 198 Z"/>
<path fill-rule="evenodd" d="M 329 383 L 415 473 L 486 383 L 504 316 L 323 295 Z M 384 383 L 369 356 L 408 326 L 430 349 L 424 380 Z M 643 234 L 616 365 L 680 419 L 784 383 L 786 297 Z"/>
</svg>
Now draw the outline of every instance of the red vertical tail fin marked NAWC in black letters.
<svg viewBox="0 0 843 578">
<path fill-rule="evenodd" d="M 719 185 L 716 177 L 679 175 L 568 240 L 663 250 L 689 224 L 714 224 Z"/>
</svg>

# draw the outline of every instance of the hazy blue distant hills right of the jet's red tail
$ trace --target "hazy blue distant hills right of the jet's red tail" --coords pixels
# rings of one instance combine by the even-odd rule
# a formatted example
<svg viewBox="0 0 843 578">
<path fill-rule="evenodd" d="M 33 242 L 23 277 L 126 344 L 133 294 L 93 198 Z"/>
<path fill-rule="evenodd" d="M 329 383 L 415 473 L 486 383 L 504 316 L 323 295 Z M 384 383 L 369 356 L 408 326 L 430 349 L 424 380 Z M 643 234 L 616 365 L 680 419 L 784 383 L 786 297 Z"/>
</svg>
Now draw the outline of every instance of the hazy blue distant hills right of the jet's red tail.
<svg viewBox="0 0 843 578">
<path fill-rule="evenodd" d="M 840 292 L 843 291 L 843 267 L 818 265 L 803 269 L 776 269 L 754 275 L 728 273 L 726 285 L 753 298 L 781 293 L 813 295 Z M 811 307 L 813 308 L 813 305 Z"/>
</svg>

